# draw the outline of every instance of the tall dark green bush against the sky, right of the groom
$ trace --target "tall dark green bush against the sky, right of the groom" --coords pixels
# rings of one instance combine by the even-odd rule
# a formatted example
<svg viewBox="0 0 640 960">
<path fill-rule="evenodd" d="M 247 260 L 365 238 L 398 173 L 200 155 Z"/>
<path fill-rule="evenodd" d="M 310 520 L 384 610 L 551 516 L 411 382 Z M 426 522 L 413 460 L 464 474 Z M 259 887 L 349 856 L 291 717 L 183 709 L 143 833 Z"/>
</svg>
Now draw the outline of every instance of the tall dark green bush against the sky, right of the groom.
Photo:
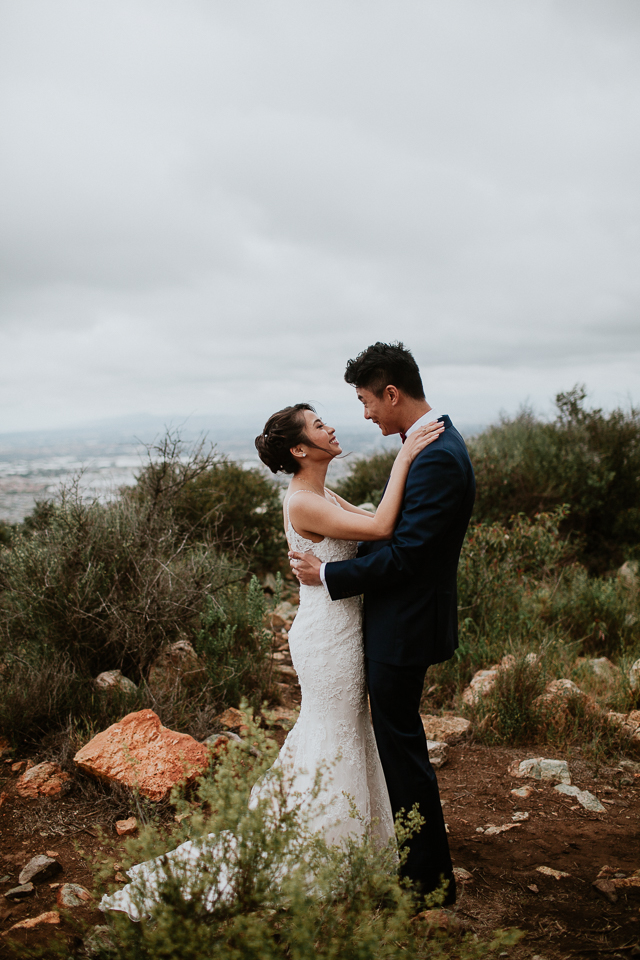
<svg viewBox="0 0 640 960">
<path fill-rule="evenodd" d="M 567 503 L 563 532 L 602 573 L 640 554 L 640 410 L 587 410 L 584 388 L 556 397 L 552 423 L 525 410 L 469 443 L 475 516 L 506 523 Z"/>
</svg>

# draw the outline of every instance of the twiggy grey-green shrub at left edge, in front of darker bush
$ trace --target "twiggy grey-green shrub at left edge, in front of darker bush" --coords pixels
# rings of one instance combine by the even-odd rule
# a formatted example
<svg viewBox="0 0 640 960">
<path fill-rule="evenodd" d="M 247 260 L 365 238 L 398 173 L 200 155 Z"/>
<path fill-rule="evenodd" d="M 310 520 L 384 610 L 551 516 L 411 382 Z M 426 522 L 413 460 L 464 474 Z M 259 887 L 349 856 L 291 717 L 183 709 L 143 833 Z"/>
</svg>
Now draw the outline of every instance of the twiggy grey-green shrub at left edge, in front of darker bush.
<svg viewBox="0 0 640 960">
<path fill-rule="evenodd" d="M 81 676 L 119 668 L 138 682 L 197 628 L 205 596 L 241 576 L 178 537 L 170 511 L 71 492 L 48 526 L 0 553 L 0 642 L 28 660 L 68 657 Z"/>
</svg>

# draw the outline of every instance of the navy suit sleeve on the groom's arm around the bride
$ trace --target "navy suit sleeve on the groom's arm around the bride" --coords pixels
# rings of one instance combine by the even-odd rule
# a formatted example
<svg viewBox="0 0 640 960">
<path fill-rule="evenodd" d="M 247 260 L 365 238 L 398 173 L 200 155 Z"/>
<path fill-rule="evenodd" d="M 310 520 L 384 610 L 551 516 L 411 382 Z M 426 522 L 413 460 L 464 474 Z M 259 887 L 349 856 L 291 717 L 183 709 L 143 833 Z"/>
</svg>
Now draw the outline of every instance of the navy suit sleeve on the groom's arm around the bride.
<svg viewBox="0 0 640 960">
<path fill-rule="evenodd" d="M 327 563 L 325 578 L 332 600 L 402 583 L 424 565 L 466 488 L 462 466 L 450 451 L 434 447 L 429 453 L 418 456 L 411 466 L 393 539 L 366 556 Z"/>
</svg>

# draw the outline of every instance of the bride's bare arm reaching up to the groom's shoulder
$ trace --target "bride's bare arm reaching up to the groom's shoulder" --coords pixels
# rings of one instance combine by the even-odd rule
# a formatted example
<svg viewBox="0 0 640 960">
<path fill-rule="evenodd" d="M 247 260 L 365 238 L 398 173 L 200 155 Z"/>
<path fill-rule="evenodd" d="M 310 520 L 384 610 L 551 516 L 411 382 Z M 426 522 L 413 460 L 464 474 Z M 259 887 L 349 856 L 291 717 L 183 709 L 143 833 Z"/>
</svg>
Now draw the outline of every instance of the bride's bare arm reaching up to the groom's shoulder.
<svg viewBox="0 0 640 960">
<path fill-rule="evenodd" d="M 443 430 L 443 423 L 434 422 L 407 438 L 393 463 L 387 489 L 375 516 L 365 510 L 355 513 L 345 510 L 318 496 L 296 497 L 290 504 L 294 528 L 302 535 L 313 533 L 335 540 L 389 539 L 400 513 L 409 467 L 428 444 L 437 440 Z"/>
</svg>

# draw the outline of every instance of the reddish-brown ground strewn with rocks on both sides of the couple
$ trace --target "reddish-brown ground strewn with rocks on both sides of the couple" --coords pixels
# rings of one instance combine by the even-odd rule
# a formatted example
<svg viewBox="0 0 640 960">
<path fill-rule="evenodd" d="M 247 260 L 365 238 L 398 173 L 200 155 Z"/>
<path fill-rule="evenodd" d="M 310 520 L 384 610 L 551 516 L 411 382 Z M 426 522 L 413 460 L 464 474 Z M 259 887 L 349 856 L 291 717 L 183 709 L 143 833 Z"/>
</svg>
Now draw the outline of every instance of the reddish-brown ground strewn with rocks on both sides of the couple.
<svg viewBox="0 0 640 960">
<path fill-rule="evenodd" d="M 300 699 L 286 643 L 292 613 L 283 606 L 273 624 L 284 701 L 280 742 L 284 718 L 295 717 Z M 233 714 L 219 725 L 230 736 L 242 732 Z M 434 752 L 461 878 L 458 903 L 439 922 L 481 937 L 518 927 L 526 936 L 510 954 L 516 960 L 640 956 L 640 763 L 595 769 L 579 750 L 561 756 L 545 748 L 544 760 L 566 765 L 527 764 L 540 751 L 482 746 L 465 722 L 425 720 L 425 729 L 445 744 Z M 170 742 L 162 731 L 162 742 Z M 0 761 L 0 957 L 11 956 L 9 938 L 44 946 L 53 931 L 80 950 L 87 925 L 104 922 L 91 895 L 95 865 L 136 828 L 126 786 L 97 784 L 77 768 L 59 782 L 47 769 L 38 787 L 37 778 L 25 777 L 38 760 L 6 751 Z M 115 880 L 125 882 L 117 868 Z"/>
</svg>

